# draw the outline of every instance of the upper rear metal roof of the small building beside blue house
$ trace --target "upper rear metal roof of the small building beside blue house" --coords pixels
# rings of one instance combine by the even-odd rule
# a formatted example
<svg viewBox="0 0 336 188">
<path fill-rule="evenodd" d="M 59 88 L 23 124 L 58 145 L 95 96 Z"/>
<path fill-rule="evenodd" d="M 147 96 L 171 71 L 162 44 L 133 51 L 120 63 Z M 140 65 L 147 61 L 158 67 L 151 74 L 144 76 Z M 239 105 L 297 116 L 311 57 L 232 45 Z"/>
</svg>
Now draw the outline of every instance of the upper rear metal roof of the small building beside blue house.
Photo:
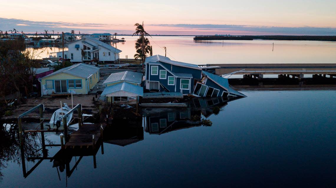
<svg viewBox="0 0 336 188">
<path fill-rule="evenodd" d="M 118 73 L 112 73 L 103 84 L 110 84 L 114 82 L 125 81 L 141 84 L 142 73 L 136 73 L 132 71 L 123 71 Z"/>
</svg>

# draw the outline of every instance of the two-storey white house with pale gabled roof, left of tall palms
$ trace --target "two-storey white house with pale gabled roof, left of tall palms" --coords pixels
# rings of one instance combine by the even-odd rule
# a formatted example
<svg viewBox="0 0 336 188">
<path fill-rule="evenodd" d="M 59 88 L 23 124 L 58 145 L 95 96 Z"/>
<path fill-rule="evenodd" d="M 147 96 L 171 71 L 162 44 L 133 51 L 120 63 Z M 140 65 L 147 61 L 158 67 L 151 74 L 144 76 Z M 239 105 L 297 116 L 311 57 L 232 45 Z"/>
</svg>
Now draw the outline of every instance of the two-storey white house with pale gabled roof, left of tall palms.
<svg viewBox="0 0 336 188">
<path fill-rule="evenodd" d="M 82 57 L 82 50 L 84 55 Z M 92 61 L 117 62 L 121 50 L 104 43 L 92 36 L 82 36 L 82 39 L 68 43 L 68 59 L 71 62 Z"/>
</svg>

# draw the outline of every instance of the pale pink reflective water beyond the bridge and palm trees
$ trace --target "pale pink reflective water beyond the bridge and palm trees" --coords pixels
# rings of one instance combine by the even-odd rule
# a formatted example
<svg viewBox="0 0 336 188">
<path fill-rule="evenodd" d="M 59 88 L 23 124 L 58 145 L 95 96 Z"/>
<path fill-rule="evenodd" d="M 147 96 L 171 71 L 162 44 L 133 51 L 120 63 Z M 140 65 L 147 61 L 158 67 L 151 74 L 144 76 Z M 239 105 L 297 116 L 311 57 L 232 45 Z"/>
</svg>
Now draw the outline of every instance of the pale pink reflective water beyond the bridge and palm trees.
<svg viewBox="0 0 336 188">
<path fill-rule="evenodd" d="M 133 58 L 136 36 L 124 37 L 125 42 L 112 45 L 122 50 L 121 58 Z M 194 64 L 229 63 L 335 63 L 336 42 L 328 41 L 286 41 L 286 40 L 205 40 L 194 41 L 191 36 L 150 37 L 153 54 L 165 55 L 172 60 Z M 272 43 L 274 42 L 274 51 Z M 38 59 L 47 57 L 50 52 L 61 48 L 41 48 Z M 41 51 L 39 50 L 39 52 Z"/>
</svg>

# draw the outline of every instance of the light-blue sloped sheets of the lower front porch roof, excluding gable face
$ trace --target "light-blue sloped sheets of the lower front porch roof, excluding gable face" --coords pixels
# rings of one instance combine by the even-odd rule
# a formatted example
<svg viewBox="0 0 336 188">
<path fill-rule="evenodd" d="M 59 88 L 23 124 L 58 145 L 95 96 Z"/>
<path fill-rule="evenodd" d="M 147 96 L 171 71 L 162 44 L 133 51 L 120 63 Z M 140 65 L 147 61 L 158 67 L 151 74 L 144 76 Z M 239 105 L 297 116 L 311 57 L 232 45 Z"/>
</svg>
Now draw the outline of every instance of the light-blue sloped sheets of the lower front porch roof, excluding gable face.
<svg viewBox="0 0 336 188">
<path fill-rule="evenodd" d="M 133 85 L 127 82 L 121 82 L 121 83 L 106 87 L 100 96 L 109 95 L 109 94 L 112 94 L 118 91 L 125 91 L 125 92 L 132 93 L 135 95 L 143 96 L 142 87 Z"/>
</svg>

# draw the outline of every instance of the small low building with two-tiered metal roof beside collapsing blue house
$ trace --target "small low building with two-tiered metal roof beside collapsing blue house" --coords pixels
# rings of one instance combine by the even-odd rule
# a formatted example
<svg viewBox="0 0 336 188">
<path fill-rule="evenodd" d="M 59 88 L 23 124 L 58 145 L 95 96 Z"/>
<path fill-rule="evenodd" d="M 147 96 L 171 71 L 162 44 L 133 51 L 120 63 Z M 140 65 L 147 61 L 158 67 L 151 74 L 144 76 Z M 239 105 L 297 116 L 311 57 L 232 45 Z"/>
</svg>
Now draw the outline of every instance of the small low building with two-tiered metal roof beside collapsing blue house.
<svg viewBox="0 0 336 188">
<path fill-rule="evenodd" d="M 143 96 L 141 81 L 142 73 L 131 71 L 112 73 L 103 82 L 106 88 L 100 96 L 106 96 L 108 102 L 136 102 Z"/>
</svg>

